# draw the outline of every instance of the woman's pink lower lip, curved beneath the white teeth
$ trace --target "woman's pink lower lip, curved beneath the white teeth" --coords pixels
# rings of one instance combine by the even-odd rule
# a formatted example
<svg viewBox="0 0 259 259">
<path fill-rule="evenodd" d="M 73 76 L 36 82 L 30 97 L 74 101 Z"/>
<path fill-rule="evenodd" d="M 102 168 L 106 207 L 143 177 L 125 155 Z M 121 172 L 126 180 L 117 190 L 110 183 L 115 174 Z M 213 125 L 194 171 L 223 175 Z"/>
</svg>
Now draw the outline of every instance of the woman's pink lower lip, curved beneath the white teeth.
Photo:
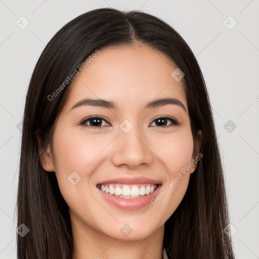
<svg viewBox="0 0 259 259">
<path fill-rule="evenodd" d="M 143 195 L 140 198 L 120 198 L 118 196 L 110 195 L 106 192 L 103 192 L 99 188 L 97 188 L 103 197 L 112 205 L 117 208 L 121 209 L 139 209 L 151 204 L 151 200 L 157 196 L 158 190 L 160 189 L 161 185 L 158 185 L 157 188 L 150 193 L 149 195 Z"/>
</svg>

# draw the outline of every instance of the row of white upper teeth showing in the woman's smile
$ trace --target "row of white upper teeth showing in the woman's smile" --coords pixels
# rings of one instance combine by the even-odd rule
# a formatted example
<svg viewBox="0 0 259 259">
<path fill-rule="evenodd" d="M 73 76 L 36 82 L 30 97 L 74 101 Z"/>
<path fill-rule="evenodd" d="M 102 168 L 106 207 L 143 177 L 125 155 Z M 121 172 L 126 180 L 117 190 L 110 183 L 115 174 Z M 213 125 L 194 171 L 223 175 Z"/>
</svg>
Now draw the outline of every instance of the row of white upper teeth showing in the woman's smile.
<svg viewBox="0 0 259 259">
<path fill-rule="evenodd" d="M 122 188 L 116 186 L 115 188 L 112 185 L 106 186 L 101 185 L 101 190 L 105 193 L 109 193 L 110 195 L 119 196 L 121 198 L 131 198 L 137 197 L 140 198 L 143 195 L 149 195 L 156 189 L 157 185 L 148 185 L 146 188 L 142 186 L 138 188 L 137 186 L 133 186 L 132 188 L 124 185 Z"/>
</svg>

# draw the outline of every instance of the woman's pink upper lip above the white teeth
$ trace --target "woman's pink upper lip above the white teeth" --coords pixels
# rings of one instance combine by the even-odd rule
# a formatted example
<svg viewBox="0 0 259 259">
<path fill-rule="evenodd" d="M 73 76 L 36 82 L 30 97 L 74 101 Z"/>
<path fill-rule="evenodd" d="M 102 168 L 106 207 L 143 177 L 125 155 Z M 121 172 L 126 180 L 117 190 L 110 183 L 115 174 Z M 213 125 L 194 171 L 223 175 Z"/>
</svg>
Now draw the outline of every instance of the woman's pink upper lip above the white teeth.
<svg viewBox="0 0 259 259">
<path fill-rule="evenodd" d="M 147 177 L 120 177 L 102 181 L 98 184 L 160 184 L 160 182 Z"/>
</svg>

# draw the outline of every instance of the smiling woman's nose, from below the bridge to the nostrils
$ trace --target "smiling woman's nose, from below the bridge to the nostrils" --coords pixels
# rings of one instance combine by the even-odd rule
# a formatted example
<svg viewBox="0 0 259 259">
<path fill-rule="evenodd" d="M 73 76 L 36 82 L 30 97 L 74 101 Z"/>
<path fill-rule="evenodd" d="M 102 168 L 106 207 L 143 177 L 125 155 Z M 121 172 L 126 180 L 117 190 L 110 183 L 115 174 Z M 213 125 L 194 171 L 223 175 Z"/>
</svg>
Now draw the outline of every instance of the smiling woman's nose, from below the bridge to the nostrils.
<svg viewBox="0 0 259 259">
<path fill-rule="evenodd" d="M 115 166 L 136 168 L 140 165 L 149 165 L 153 161 L 154 153 L 149 148 L 145 133 L 140 134 L 137 126 L 128 133 L 118 130 L 118 136 L 113 143 L 112 163 Z"/>
</svg>

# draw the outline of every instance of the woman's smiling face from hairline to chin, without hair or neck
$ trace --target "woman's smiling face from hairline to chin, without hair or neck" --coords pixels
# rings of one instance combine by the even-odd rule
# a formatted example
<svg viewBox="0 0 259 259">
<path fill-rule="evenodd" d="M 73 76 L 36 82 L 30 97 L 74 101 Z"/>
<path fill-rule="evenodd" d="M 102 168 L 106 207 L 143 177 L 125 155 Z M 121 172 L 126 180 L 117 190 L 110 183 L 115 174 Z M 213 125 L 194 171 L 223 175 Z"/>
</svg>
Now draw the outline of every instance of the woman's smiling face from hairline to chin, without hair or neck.
<svg viewBox="0 0 259 259">
<path fill-rule="evenodd" d="M 72 224 L 141 239 L 179 206 L 197 143 L 176 68 L 144 45 L 105 48 L 74 78 L 42 164 L 55 171 Z"/>
</svg>

